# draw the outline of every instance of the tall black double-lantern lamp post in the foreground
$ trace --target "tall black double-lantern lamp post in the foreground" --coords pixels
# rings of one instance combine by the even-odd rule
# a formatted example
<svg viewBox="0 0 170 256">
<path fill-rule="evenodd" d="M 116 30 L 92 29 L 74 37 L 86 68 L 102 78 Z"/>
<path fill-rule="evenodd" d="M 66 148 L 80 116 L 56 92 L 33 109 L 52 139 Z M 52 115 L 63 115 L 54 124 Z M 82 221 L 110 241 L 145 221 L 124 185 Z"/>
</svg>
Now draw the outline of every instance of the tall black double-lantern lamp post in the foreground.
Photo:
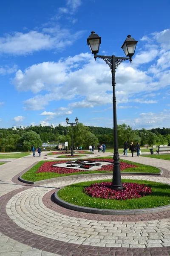
<svg viewBox="0 0 170 256">
<path fill-rule="evenodd" d="M 130 60 L 132 62 L 132 56 L 135 53 L 137 41 L 134 38 L 131 38 L 130 35 L 127 36 L 124 44 L 122 45 L 122 49 L 125 52 L 125 55 L 129 58 L 124 57 L 116 57 L 115 55 L 112 56 L 105 56 L 105 55 L 97 55 L 99 52 L 99 47 L 101 44 L 101 37 L 95 34 L 94 31 L 91 32 L 91 35 L 87 39 L 88 46 L 91 49 L 91 53 L 94 54 L 94 59 L 101 58 L 104 60 L 110 67 L 112 73 L 112 86 L 113 86 L 113 133 L 114 133 L 114 155 L 113 155 L 113 180 L 112 180 L 112 189 L 123 189 L 122 187 L 122 180 L 121 180 L 121 173 L 120 173 L 120 162 L 119 162 L 119 152 L 118 152 L 118 140 L 117 140 L 117 117 L 116 117 L 116 82 L 115 82 L 115 73 L 116 68 L 126 60 Z"/>
</svg>

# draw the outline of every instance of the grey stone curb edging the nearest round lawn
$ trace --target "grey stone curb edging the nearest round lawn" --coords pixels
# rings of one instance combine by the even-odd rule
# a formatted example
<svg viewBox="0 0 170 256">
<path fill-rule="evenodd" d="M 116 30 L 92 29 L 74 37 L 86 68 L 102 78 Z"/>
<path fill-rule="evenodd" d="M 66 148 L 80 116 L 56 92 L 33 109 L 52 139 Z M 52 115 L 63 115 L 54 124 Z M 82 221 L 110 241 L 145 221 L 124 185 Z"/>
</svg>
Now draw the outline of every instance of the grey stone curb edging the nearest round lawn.
<svg viewBox="0 0 170 256">
<path fill-rule="evenodd" d="M 56 203 L 61 205 L 62 207 L 65 207 L 67 209 L 71 209 L 74 211 L 78 211 L 78 212 L 103 214 L 103 215 L 141 215 L 141 214 L 148 214 L 153 212 L 165 212 L 165 211 L 167 212 L 170 210 L 170 204 L 160 206 L 160 207 L 154 207 L 154 208 L 128 209 L 128 210 L 113 210 L 113 209 L 98 209 L 98 208 L 91 208 L 91 207 L 83 207 L 76 204 L 70 204 L 60 199 L 59 196 L 57 195 L 60 189 L 57 189 L 57 191 L 54 193 L 54 200 L 56 201 Z"/>
</svg>

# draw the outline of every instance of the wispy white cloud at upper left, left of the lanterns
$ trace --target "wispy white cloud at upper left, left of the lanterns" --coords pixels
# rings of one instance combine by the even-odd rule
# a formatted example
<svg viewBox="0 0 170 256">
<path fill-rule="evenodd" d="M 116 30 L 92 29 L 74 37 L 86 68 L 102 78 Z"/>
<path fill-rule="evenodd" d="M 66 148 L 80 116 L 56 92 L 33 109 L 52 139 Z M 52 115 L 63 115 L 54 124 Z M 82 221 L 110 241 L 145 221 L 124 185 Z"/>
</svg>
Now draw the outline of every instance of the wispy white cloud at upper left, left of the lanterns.
<svg viewBox="0 0 170 256">
<path fill-rule="evenodd" d="M 69 29 L 61 29 L 59 26 L 43 28 L 42 32 L 13 32 L 0 37 L 0 52 L 25 55 L 47 49 L 57 51 L 70 46 L 81 35 L 82 31 L 71 33 Z"/>
</svg>

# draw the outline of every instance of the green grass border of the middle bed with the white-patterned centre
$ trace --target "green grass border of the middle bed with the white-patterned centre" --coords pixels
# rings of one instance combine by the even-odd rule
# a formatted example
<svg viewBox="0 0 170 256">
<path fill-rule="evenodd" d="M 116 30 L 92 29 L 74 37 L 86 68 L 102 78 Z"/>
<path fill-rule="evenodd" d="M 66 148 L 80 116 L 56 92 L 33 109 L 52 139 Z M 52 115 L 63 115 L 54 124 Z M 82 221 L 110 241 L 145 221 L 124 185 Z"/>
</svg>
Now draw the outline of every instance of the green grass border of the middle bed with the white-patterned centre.
<svg viewBox="0 0 170 256">
<path fill-rule="evenodd" d="M 112 157 L 98 157 L 99 159 L 105 158 L 105 159 L 112 159 Z M 93 159 L 93 158 L 92 158 Z M 153 167 L 153 166 L 146 166 L 144 164 L 140 163 L 133 163 L 130 161 L 126 160 L 121 160 L 122 162 L 125 163 L 131 163 L 135 164 L 136 166 L 139 167 L 133 167 L 133 168 L 127 168 L 122 170 L 121 172 L 153 172 L 153 173 L 159 173 L 160 169 Z M 54 161 L 40 161 L 37 163 L 35 166 L 33 166 L 31 169 L 29 169 L 25 174 L 22 175 L 22 178 L 24 180 L 30 180 L 30 181 L 38 181 L 38 180 L 45 180 L 45 179 L 51 179 L 55 177 L 61 177 L 61 176 L 68 176 L 68 175 L 81 175 L 81 174 L 92 174 L 92 173 L 105 173 L 107 171 L 87 171 L 87 172 L 74 172 L 74 173 L 69 173 L 69 174 L 58 174 L 54 172 L 41 172 L 41 173 L 36 173 L 37 170 L 42 166 L 43 163 L 45 162 L 54 162 Z M 57 161 L 55 161 L 57 163 Z M 107 172 L 108 173 L 108 172 Z"/>
</svg>

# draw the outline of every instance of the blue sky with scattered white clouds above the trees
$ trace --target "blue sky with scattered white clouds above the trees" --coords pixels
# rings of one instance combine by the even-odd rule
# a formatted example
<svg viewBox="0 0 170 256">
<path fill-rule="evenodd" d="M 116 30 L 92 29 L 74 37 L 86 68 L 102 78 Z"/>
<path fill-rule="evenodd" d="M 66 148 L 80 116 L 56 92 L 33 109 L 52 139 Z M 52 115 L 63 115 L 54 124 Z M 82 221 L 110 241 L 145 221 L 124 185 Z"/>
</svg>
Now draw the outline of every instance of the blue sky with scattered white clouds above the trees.
<svg viewBox="0 0 170 256">
<path fill-rule="evenodd" d="M 125 56 L 116 70 L 117 122 L 133 129 L 170 127 L 170 1 L 29 0 L 0 3 L 0 128 L 66 125 L 113 127 L 111 71 L 94 61 Z M 2 25 L 3 24 L 3 25 Z"/>
</svg>

